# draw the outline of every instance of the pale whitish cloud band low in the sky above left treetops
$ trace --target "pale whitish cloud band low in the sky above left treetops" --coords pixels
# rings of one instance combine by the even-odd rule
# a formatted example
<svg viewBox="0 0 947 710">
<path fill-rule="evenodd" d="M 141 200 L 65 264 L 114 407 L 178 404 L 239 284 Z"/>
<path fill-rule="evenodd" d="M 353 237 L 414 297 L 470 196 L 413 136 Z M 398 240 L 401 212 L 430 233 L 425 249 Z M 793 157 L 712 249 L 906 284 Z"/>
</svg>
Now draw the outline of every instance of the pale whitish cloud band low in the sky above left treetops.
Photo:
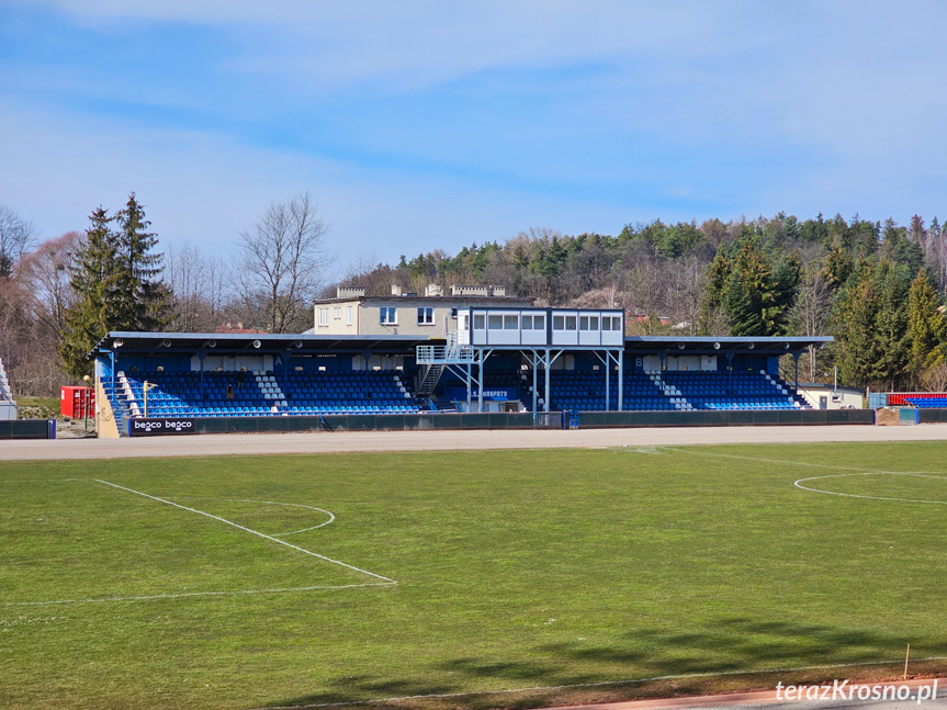
<svg viewBox="0 0 947 710">
<path fill-rule="evenodd" d="M 200 132 L 133 131 L 88 120 L 65 125 L 29 110 L 0 110 L 0 194 L 44 238 L 84 228 L 94 207 L 115 210 L 131 191 L 162 241 L 226 253 L 270 202 L 309 190 L 331 225 L 329 247 L 342 263 L 372 251 L 396 260 L 399 253 L 460 248 L 531 225 L 617 232 L 629 211 L 644 214 L 630 204 L 590 205 L 354 170 Z"/>
</svg>

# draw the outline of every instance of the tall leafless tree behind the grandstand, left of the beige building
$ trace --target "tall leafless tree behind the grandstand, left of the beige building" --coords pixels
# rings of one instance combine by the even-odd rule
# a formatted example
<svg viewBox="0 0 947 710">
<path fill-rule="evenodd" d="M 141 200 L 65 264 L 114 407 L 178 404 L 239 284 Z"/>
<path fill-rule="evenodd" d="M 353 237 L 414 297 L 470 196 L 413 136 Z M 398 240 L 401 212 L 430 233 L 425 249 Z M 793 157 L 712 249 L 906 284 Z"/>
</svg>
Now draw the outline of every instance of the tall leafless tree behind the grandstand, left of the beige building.
<svg viewBox="0 0 947 710">
<path fill-rule="evenodd" d="M 235 281 L 241 288 L 246 322 L 270 333 L 298 333 L 312 322 L 312 302 L 334 256 L 328 232 L 308 192 L 273 203 L 240 233 Z"/>
</svg>

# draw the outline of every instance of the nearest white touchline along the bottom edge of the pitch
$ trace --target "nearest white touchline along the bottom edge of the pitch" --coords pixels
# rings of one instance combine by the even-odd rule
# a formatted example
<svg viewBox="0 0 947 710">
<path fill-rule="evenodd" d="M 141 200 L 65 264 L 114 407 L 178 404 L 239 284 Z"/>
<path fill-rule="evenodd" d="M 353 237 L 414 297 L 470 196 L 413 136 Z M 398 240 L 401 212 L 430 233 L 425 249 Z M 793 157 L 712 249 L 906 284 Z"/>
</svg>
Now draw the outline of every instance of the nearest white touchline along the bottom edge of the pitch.
<svg viewBox="0 0 947 710">
<path fill-rule="evenodd" d="M 916 658 L 915 663 L 925 661 L 947 661 L 947 656 L 927 656 Z M 559 686 L 532 686 L 529 688 L 506 688 L 503 690 L 473 690 L 470 692 L 432 692 L 430 695 L 402 696 L 398 698 L 372 698 L 370 700 L 346 700 L 342 702 L 317 702 L 302 706 L 266 706 L 255 710 L 306 710 L 306 708 L 340 708 L 345 706 L 374 705 L 380 702 L 403 702 L 405 700 L 424 700 L 437 698 L 465 698 L 473 696 L 492 696 L 514 692 L 534 692 L 538 690 L 568 690 L 571 688 L 597 688 L 601 686 L 630 686 L 642 683 L 656 683 L 658 680 L 686 680 L 688 678 L 718 678 L 724 676 L 757 676 L 773 675 L 776 673 L 801 673 L 803 670 L 827 670 L 828 668 L 856 668 L 868 666 L 888 666 L 903 663 L 901 658 L 894 661 L 875 661 L 871 663 L 830 663 L 820 666 L 797 666 L 794 668 L 770 668 L 764 670 L 718 670 L 712 673 L 681 673 L 667 676 L 651 676 L 649 678 L 629 678 L 625 680 L 599 680 L 597 683 L 570 683 Z"/>
</svg>

